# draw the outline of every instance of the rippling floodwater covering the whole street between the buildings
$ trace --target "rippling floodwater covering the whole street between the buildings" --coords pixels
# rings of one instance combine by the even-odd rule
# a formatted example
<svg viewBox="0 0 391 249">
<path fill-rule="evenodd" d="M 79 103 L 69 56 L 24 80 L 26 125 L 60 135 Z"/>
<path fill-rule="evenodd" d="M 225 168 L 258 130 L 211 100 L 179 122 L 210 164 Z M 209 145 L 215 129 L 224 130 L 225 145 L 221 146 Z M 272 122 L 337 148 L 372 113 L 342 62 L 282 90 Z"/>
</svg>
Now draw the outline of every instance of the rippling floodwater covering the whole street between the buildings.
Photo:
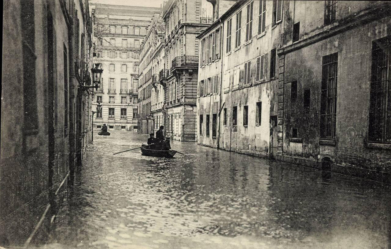
<svg viewBox="0 0 391 249">
<path fill-rule="evenodd" d="M 111 131 L 110 131 L 111 132 Z M 45 248 L 387 248 L 390 186 L 147 135 L 94 137 Z"/>
</svg>

